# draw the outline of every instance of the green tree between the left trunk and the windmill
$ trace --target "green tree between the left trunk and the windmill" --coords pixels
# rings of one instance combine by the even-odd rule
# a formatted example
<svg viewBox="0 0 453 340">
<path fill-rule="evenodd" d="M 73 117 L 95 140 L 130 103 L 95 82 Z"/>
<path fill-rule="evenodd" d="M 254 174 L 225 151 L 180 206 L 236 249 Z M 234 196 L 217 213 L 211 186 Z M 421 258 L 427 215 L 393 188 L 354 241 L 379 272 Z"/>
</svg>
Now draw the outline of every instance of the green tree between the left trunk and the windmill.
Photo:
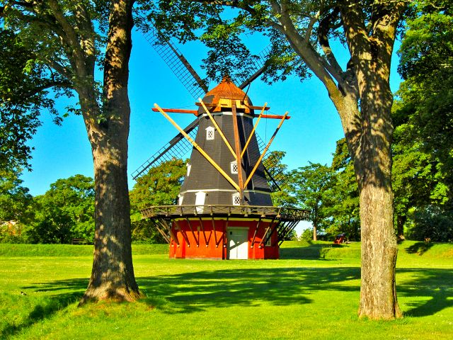
<svg viewBox="0 0 453 340">
<path fill-rule="evenodd" d="M 151 220 L 142 220 L 140 210 L 152 205 L 173 205 L 185 176 L 185 162 L 173 159 L 149 169 L 137 179 L 130 191 L 132 241 L 139 243 L 166 242 Z"/>
</svg>

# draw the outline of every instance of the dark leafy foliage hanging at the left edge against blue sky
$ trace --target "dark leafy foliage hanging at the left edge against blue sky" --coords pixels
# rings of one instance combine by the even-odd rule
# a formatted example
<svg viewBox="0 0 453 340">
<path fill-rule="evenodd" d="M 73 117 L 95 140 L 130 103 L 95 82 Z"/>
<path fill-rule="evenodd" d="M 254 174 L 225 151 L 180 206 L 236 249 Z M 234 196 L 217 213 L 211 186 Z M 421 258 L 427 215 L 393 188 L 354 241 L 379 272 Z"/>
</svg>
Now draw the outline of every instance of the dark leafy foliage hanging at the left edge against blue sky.
<svg viewBox="0 0 453 340">
<path fill-rule="evenodd" d="M 0 167 L 9 171 L 30 168 L 27 141 L 40 125 L 42 109 L 56 114 L 47 98 L 45 67 L 13 30 L 0 28 Z M 55 121 L 58 122 L 57 115 Z"/>
</svg>

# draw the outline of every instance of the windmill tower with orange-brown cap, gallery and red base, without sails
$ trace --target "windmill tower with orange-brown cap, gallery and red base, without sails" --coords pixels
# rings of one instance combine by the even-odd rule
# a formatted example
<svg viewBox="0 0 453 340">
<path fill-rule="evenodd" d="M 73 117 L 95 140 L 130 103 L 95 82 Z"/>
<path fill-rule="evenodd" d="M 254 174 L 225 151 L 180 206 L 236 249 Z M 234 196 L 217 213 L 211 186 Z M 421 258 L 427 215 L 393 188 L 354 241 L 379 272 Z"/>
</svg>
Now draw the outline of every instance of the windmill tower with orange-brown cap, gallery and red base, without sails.
<svg viewBox="0 0 453 340">
<path fill-rule="evenodd" d="M 198 120 L 195 140 L 167 114 L 178 110 L 157 105 L 154 109 L 178 129 L 193 151 L 178 204 L 146 208 L 143 217 L 156 222 L 174 259 L 278 259 L 282 240 L 297 222 L 309 217 L 309 210 L 273 206 L 262 162 L 287 114 L 263 115 L 268 107 L 253 106 L 229 79 L 197 105 L 198 110 L 190 112 Z M 280 119 L 263 152 L 255 135 L 261 118 Z"/>
</svg>

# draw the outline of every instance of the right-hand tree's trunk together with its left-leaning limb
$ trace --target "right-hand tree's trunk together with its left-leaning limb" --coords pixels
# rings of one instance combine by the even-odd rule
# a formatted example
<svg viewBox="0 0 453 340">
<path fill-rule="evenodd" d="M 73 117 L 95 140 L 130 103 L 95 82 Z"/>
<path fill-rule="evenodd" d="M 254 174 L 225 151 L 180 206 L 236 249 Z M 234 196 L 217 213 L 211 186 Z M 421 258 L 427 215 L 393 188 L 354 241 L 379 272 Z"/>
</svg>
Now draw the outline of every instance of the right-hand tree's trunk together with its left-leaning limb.
<svg viewBox="0 0 453 340">
<path fill-rule="evenodd" d="M 391 125 L 393 96 L 389 88 L 391 53 L 404 1 L 379 1 L 367 18 L 358 0 L 338 1 L 319 21 L 318 43 L 322 57 L 311 45 L 308 26 L 301 33 L 292 21 L 287 1 L 270 1 L 280 30 L 294 51 L 326 86 L 336 107 L 355 166 L 360 190 L 362 232 L 362 283 L 360 317 L 394 319 L 401 312 L 396 300 L 396 237 L 391 189 Z M 296 13 L 299 15 L 299 13 Z M 337 16 L 350 52 L 343 71 L 328 42 Z M 359 106 L 360 103 L 360 106 Z"/>
</svg>

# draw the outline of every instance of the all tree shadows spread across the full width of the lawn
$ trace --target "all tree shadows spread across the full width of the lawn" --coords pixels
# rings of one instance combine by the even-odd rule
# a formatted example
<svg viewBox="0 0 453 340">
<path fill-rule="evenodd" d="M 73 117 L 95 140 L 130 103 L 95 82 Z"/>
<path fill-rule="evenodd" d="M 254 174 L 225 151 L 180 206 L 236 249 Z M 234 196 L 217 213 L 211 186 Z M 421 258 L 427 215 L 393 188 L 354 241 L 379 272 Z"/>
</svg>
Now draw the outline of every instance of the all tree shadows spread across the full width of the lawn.
<svg viewBox="0 0 453 340">
<path fill-rule="evenodd" d="M 411 309 L 406 314 L 424 317 L 453 307 L 453 300 L 449 298 L 453 296 L 453 273 L 449 269 L 398 268 L 397 274 L 408 274 L 408 278 L 397 287 L 399 296 L 408 297 L 406 303 Z M 303 305 L 312 303 L 311 295 L 319 291 L 330 291 L 332 297 L 340 292 L 355 292 L 358 304 L 359 280 L 360 268 L 333 266 L 219 269 L 137 278 L 140 288 L 148 296 L 144 302 L 168 314 L 232 305 Z M 26 287 L 28 290 L 52 292 L 50 302 L 36 306 L 25 322 L 9 327 L 2 331 L 2 335 L 16 334 L 41 319 L 51 317 L 57 310 L 78 300 L 87 284 L 87 279 L 71 279 Z M 420 297 L 425 298 L 419 300 Z"/>
</svg>

